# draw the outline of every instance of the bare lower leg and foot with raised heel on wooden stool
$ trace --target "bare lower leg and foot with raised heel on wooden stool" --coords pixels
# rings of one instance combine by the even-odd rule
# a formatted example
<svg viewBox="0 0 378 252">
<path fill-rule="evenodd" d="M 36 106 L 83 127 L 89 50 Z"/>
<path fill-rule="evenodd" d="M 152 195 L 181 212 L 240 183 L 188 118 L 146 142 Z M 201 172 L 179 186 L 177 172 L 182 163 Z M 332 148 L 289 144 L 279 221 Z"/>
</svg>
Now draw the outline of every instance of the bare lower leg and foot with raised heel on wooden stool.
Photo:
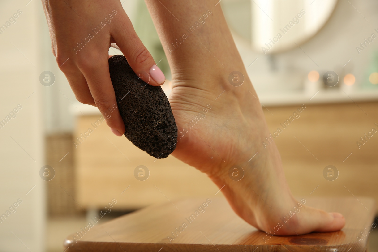
<svg viewBox="0 0 378 252">
<path fill-rule="evenodd" d="M 172 70 L 169 100 L 179 129 L 172 154 L 224 186 L 234 211 L 260 230 L 300 235 L 341 229 L 340 214 L 293 198 L 276 145 L 264 149 L 270 133 L 217 2 L 146 0 Z M 239 87 L 228 80 L 233 71 L 245 77 Z M 240 181 L 229 176 L 234 165 L 244 170 Z"/>
</svg>

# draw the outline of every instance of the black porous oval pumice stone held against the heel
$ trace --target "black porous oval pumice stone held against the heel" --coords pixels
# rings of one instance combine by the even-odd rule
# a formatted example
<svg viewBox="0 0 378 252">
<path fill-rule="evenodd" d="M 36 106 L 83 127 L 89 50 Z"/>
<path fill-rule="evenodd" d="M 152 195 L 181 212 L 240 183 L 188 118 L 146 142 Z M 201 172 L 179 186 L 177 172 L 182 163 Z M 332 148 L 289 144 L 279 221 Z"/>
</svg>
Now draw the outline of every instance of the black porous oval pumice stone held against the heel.
<svg viewBox="0 0 378 252">
<path fill-rule="evenodd" d="M 142 82 L 122 55 L 109 58 L 124 135 L 135 146 L 155 158 L 166 158 L 176 148 L 177 125 L 161 87 Z"/>
</svg>

